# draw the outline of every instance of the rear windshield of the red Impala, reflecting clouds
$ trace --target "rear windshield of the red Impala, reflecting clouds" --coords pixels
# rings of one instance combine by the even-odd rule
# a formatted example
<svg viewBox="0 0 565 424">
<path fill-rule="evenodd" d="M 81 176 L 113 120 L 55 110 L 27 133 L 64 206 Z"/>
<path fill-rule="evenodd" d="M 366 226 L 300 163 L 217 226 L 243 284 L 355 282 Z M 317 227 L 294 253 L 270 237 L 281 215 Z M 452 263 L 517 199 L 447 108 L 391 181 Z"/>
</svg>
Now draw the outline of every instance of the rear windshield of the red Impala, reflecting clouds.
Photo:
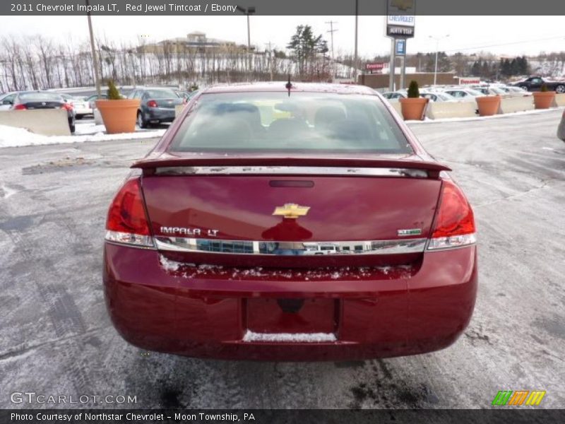
<svg viewBox="0 0 565 424">
<path fill-rule="evenodd" d="M 374 95 L 203 94 L 169 151 L 411 153 Z"/>
</svg>

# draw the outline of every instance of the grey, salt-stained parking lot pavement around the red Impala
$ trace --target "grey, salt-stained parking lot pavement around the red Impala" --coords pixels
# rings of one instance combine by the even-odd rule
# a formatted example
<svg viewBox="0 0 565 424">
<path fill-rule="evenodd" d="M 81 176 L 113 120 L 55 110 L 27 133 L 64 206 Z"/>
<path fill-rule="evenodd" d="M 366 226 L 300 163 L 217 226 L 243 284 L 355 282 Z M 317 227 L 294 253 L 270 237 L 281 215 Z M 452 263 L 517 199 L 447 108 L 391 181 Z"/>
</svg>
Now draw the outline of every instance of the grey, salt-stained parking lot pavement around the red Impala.
<svg viewBox="0 0 565 424">
<path fill-rule="evenodd" d="M 0 149 L 0 407 L 28 407 L 9 394 L 35 391 L 137 396 L 106 407 L 487 408 L 499 390 L 539 389 L 542 407 L 562 408 L 560 114 L 412 126 L 475 208 L 477 306 L 450 348 L 364 363 L 222 362 L 129 346 L 102 295 L 105 213 L 127 165 L 155 141 Z"/>
</svg>

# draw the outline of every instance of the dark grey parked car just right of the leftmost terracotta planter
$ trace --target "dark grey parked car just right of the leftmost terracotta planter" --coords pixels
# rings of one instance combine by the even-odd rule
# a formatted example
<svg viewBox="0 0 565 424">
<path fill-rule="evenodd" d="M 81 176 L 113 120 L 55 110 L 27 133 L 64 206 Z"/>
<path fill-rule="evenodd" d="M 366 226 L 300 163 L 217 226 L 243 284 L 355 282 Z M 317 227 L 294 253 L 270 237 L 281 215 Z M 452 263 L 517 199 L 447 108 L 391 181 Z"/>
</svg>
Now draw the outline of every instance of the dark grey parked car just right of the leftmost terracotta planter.
<svg viewBox="0 0 565 424">
<path fill-rule="evenodd" d="M 136 88 L 129 93 L 128 98 L 141 100 L 137 111 L 140 128 L 147 128 L 149 124 L 172 122 L 174 107 L 184 102 L 172 88 Z"/>
</svg>

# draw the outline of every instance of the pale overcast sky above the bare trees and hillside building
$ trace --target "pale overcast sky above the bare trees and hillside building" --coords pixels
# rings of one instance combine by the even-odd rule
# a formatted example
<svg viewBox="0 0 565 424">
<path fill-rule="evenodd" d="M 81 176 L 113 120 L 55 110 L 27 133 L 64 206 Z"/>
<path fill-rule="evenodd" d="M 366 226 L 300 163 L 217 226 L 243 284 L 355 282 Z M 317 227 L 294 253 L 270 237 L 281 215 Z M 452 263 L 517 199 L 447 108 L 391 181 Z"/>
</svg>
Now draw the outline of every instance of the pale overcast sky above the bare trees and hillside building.
<svg viewBox="0 0 565 424">
<path fill-rule="evenodd" d="M 4 1 L 4 0 L 2 0 Z M 251 16 L 251 44 L 260 49 L 269 41 L 284 48 L 297 25 L 307 24 L 316 34 L 330 35 L 327 21 L 336 23 L 334 50 L 353 52 L 354 16 Z M 111 40 L 135 42 L 140 35 L 149 42 L 182 37 L 202 31 L 208 37 L 247 42 L 245 16 L 93 16 L 95 33 Z M 35 35 L 66 40 L 87 40 L 85 16 L 0 16 L 1 35 Z M 390 51 L 384 37 L 383 16 L 359 16 L 359 55 L 371 57 Z M 565 25 L 562 16 L 417 16 L 416 37 L 408 41 L 408 53 L 435 51 L 448 53 L 488 51 L 495 54 L 537 54 L 565 50 Z"/>
</svg>

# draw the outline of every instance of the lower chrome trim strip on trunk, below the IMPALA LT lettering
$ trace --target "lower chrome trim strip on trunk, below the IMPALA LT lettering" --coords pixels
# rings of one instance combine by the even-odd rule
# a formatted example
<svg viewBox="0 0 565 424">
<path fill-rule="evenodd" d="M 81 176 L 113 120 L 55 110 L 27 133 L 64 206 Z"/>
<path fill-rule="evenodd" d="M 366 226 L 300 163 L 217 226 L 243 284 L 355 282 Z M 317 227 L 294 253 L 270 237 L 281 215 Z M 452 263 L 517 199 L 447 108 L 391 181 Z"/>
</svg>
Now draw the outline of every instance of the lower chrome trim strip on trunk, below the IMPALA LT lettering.
<svg viewBox="0 0 565 424">
<path fill-rule="evenodd" d="M 253 254 L 278 256 L 405 254 L 424 252 L 427 239 L 366 240 L 350 242 L 265 242 L 251 240 L 154 237 L 158 250 L 210 254 Z"/>
</svg>

